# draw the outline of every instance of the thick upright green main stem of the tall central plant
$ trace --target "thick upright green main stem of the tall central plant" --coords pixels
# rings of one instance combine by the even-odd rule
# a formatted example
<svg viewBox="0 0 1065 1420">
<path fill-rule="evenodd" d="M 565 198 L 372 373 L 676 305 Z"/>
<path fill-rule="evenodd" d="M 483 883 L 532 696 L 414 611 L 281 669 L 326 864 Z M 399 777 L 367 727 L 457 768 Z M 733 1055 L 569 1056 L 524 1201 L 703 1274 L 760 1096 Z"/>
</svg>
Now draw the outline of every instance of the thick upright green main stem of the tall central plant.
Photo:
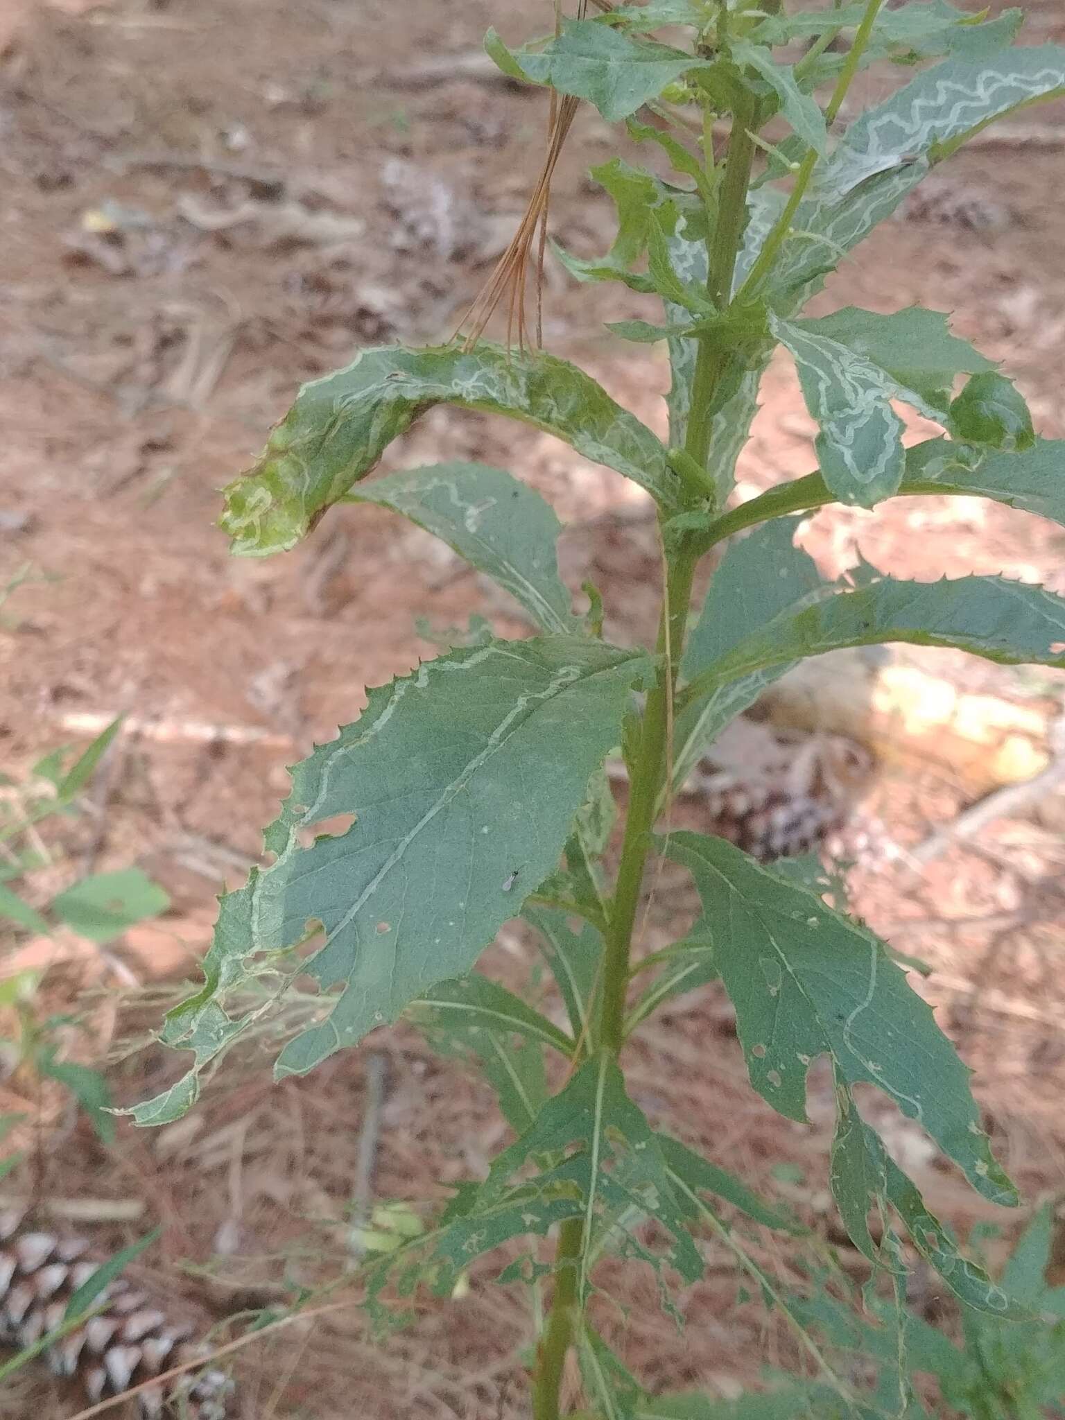
<svg viewBox="0 0 1065 1420">
<path fill-rule="evenodd" d="M 747 222 L 747 187 L 754 162 L 753 105 L 744 98 L 737 105 L 728 141 L 719 217 L 709 247 L 707 293 L 724 308 L 733 287 L 736 258 Z M 720 341 L 699 341 L 699 355 L 692 382 L 692 410 L 684 439 L 684 453 L 706 467 L 710 453 L 713 396 L 727 351 Z M 652 831 L 659 792 L 669 772 L 673 696 L 680 655 L 684 646 L 692 579 L 700 550 L 692 537 L 666 544 L 666 589 L 659 628 L 659 673 L 648 693 L 636 760 L 632 765 L 629 809 L 618 868 L 613 899 L 606 924 L 602 991 L 599 1005 L 599 1047 L 616 1055 L 625 1039 L 625 998 L 629 985 L 629 953 L 639 910 L 643 873 L 652 846 Z M 581 1218 L 564 1223 L 555 1254 L 555 1294 L 551 1315 L 537 1348 L 532 1375 L 534 1420 L 559 1420 L 559 1393 L 565 1358 L 579 1325 L 581 1298 L 578 1277 L 586 1238 Z"/>
</svg>

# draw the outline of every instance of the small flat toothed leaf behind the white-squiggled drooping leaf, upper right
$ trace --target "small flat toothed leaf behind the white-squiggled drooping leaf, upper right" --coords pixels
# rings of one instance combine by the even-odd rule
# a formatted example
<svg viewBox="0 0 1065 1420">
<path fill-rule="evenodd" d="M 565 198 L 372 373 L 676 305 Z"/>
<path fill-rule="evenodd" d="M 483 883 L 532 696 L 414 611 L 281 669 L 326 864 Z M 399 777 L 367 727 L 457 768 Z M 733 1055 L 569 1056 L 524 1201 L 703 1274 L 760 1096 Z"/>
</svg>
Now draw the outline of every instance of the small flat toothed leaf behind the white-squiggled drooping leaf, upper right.
<svg viewBox="0 0 1065 1420">
<path fill-rule="evenodd" d="M 995 368 L 994 361 L 973 349 L 968 341 L 950 334 L 949 320 L 944 311 L 926 311 L 920 305 L 890 315 L 848 305 L 821 320 L 795 324 L 846 345 L 885 371 L 896 385 L 916 390 L 930 408 L 946 415 L 957 375 L 985 378 L 983 372 Z"/>
</svg>

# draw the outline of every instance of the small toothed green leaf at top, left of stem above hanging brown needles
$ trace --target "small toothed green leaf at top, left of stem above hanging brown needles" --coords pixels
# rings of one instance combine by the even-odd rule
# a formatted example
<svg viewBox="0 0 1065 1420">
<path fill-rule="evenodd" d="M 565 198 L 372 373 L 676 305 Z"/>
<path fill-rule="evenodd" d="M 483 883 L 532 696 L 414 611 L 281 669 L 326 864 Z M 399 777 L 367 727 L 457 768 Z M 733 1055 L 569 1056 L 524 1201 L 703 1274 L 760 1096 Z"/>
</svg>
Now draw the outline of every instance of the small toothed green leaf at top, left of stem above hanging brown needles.
<svg viewBox="0 0 1065 1420">
<path fill-rule="evenodd" d="M 683 50 L 632 40 L 596 20 L 568 21 L 538 50 L 511 51 L 488 30 L 484 48 L 511 78 L 588 99 L 611 124 L 635 114 L 700 62 Z"/>
</svg>

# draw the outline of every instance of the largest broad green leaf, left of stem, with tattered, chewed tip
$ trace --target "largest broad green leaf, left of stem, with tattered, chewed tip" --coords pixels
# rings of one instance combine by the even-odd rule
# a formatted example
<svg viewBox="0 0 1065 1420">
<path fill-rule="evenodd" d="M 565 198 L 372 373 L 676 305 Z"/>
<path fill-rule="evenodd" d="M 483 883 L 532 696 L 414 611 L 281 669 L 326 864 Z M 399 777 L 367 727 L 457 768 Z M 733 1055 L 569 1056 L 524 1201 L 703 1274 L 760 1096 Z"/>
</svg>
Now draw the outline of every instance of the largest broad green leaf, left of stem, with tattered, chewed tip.
<svg viewBox="0 0 1065 1420">
<path fill-rule="evenodd" d="M 558 636 L 454 650 L 371 690 L 361 719 L 293 771 L 293 795 L 266 835 L 273 865 L 223 897 L 206 985 L 165 1031 L 196 1064 L 138 1106 L 138 1122 L 187 1108 L 196 1072 L 254 1018 L 231 1020 L 223 998 L 273 976 L 308 923 L 322 924 L 325 946 L 288 970 L 341 991 L 284 1048 L 281 1076 L 469 971 L 555 866 L 588 780 L 618 741 L 629 690 L 648 672 L 648 657 Z M 341 814 L 355 815 L 345 834 L 302 846 Z"/>
</svg>

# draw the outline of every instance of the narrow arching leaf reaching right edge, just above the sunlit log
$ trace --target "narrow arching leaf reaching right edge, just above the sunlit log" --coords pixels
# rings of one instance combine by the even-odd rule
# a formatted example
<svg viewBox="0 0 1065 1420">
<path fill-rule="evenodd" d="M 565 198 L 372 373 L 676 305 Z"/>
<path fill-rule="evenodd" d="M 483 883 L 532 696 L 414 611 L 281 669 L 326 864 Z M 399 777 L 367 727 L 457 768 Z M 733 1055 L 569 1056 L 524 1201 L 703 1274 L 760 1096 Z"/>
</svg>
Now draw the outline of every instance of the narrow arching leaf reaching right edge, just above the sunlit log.
<svg viewBox="0 0 1065 1420">
<path fill-rule="evenodd" d="M 682 704 L 797 657 L 889 640 L 953 646 L 1004 666 L 1065 667 L 1065 599 L 1004 577 L 885 577 L 777 616 L 696 676 Z"/>
</svg>

